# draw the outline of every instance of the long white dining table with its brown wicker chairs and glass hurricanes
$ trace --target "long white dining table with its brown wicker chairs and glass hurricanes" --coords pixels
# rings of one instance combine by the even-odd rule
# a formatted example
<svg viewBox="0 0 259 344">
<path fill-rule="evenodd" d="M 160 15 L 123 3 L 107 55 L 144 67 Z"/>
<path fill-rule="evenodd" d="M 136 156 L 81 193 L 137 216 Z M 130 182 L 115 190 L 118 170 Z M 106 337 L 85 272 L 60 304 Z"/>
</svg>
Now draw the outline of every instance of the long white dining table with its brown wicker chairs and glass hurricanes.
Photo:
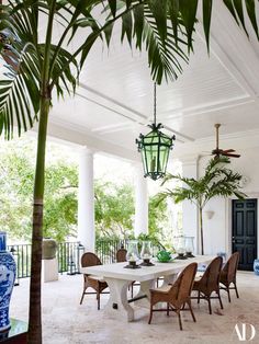
<svg viewBox="0 0 259 344">
<path fill-rule="evenodd" d="M 184 237 L 180 237 L 184 239 Z M 182 328 L 181 313 L 190 311 L 196 322 L 192 300 L 201 299 L 209 305 L 209 313 L 212 314 L 212 300 L 217 299 L 221 309 L 224 309 L 221 290 L 225 290 L 230 302 L 230 290 L 235 289 L 239 298 L 236 284 L 239 253 L 233 253 L 223 264 L 222 256 L 193 255 L 192 251 L 185 254 L 171 255 L 168 251 L 159 251 L 157 257 L 151 256 L 150 241 L 144 241 L 140 255 L 138 243 L 134 240 L 128 243 L 128 251 L 120 249 L 116 252 L 117 262 L 102 265 L 100 259 L 92 252 L 83 253 L 81 257 L 81 273 L 83 274 L 83 290 L 80 300 L 85 296 L 97 294 L 98 310 L 102 294 L 110 293 L 110 298 L 104 306 L 104 312 L 109 317 L 116 317 L 120 321 L 134 321 L 134 306 L 149 309 L 148 324 L 151 323 L 153 313 L 166 311 L 176 312 Z M 138 283 L 136 285 L 136 283 Z M 137 294 L 133 297 L 134 286 L 138 286 Z M 128 299 L 128 290 L 132 298 Z M 109 291 L 108 291 L 109 290 Z M 194 294 L 196 294 L 194 296 Z M 86 300 L 87 301 L 87 300 Z M 160 306 L 161 305 L 161 306 Z"/>
</svg>

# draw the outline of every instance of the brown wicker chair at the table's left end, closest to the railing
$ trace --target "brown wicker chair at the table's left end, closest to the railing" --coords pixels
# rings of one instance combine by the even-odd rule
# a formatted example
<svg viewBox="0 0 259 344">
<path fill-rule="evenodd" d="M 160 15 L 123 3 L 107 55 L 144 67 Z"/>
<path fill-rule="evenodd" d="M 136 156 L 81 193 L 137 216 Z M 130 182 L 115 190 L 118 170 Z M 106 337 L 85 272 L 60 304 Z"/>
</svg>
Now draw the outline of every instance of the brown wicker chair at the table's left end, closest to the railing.
<svg viewBox="0 0 259 344">
<path fill-rule="evenodd" d="M 81 256 L 81 266 L 82 267 L 101 265 L 101 264 L 102 263 L 99 260 L 99 257 L 92 252 L 86 252 Z M 95 291 L 93 291 L 93 293 L 88 291 L 87 293 L 86 290 L 89 287 L 94 289 Z M 103 280 L 100 277 L 94 276 L 94 275 L 83 274 L 83 290 L 82 290 L 80 305 L 82 303 L 82 300 L 83 300 L 83 297 L 86 294 L 97 294 L 98 310 L 100 310 L 100 295 L 101 294 L 109 294 L 109 291 L 103 291 L 105 288 L 108 288 L 108 284 L 105 280 Z"/>
</svg>

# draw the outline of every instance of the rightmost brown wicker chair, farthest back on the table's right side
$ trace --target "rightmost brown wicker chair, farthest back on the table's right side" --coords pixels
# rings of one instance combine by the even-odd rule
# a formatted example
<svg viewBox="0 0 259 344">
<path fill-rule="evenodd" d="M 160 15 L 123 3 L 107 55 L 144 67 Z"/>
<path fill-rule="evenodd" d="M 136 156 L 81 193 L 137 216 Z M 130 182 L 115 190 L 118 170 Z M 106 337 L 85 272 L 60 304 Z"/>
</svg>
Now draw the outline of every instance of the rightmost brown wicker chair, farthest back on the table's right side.
<svg viewBox="0 0 259 344">
<path fill-rule="evenodd" d="M 239 262 L 239 252 L 235 252 L 226 262 L 221 273 L 219 283 L 224 286 L 224 287 L 221 286 L 221 289 L 224 289 L 227 291 L 229 302 L 232 301 L 230 293 L 229 293 L 230 289 L 235 289 L 236 296 L 237 298 L 239 298 L 237 286 L 236 286 L 236 274 L 237 274 L 238 262 Z M 230 284 L 233 284 L 234 287 L 230 287 Z"/>
</svg>

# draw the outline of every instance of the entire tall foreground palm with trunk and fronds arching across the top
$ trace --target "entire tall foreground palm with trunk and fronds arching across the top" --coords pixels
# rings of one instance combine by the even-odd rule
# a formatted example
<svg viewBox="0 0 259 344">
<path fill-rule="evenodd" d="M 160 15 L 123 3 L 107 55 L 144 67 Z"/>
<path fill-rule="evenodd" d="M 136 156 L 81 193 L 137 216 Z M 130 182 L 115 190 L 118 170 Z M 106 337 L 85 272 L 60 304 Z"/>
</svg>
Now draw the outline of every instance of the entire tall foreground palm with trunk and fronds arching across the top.
<svg viewBox="0 0 259 344">
<path fill-rule="evenodd" d="M 2 1 L 0 0 L 0 4 Z M 225 1 L 226 10 L 245 27 L 240 1 Z M 245 1 L 258 36 L 254 0 Z M 42 343 L 41 268 L 45 146 L 52 98 L 71 95 L 91 47 L 109 46 L 115 22 L 122 41 L 148 51 L 153 79 L 176 79 L 193 49 L 198 0 L 7 0 L 0 5 L 0 55 L 5 73 L 0 80 L 0 131 L 7 139 L 38 122 L 34 181 L 29 343 Z M 98 13 L 98 16 L 97 16 Z M 203 27 L 209 46 L 212 0 L 203 0 Z M 40 23 L 46 24 L 41 26 Z M 60 36 L 54 35 L 54 24 Z M 41 33 L 41 35 L 38 34 Z M 83 42 L 76 38 L 80 35 Z M 55 43 L 54 43 L 55 42 Z M 74 50 L 72 47 L 76 47 Z"/>
</svg>

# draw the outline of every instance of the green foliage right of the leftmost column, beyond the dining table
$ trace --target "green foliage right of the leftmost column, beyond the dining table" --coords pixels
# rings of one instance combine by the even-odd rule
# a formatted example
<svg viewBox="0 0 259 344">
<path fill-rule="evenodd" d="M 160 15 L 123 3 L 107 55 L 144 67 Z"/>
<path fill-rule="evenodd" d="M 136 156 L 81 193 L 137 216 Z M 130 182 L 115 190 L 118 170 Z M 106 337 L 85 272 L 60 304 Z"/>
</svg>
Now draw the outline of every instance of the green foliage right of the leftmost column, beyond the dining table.
<svg viewBox="0 0 259 344">
<path fill-rule="evenodd" d="M 97 237 L 133 239 L 135 206 L 132 185 L 95 181 L 94 195 Z M 166 202 L 159 206 L 156 203 L 156 198 L 149 198 L 148 238 L 153 239 L 161 234 L 168 220 Z"/>
</svg>

